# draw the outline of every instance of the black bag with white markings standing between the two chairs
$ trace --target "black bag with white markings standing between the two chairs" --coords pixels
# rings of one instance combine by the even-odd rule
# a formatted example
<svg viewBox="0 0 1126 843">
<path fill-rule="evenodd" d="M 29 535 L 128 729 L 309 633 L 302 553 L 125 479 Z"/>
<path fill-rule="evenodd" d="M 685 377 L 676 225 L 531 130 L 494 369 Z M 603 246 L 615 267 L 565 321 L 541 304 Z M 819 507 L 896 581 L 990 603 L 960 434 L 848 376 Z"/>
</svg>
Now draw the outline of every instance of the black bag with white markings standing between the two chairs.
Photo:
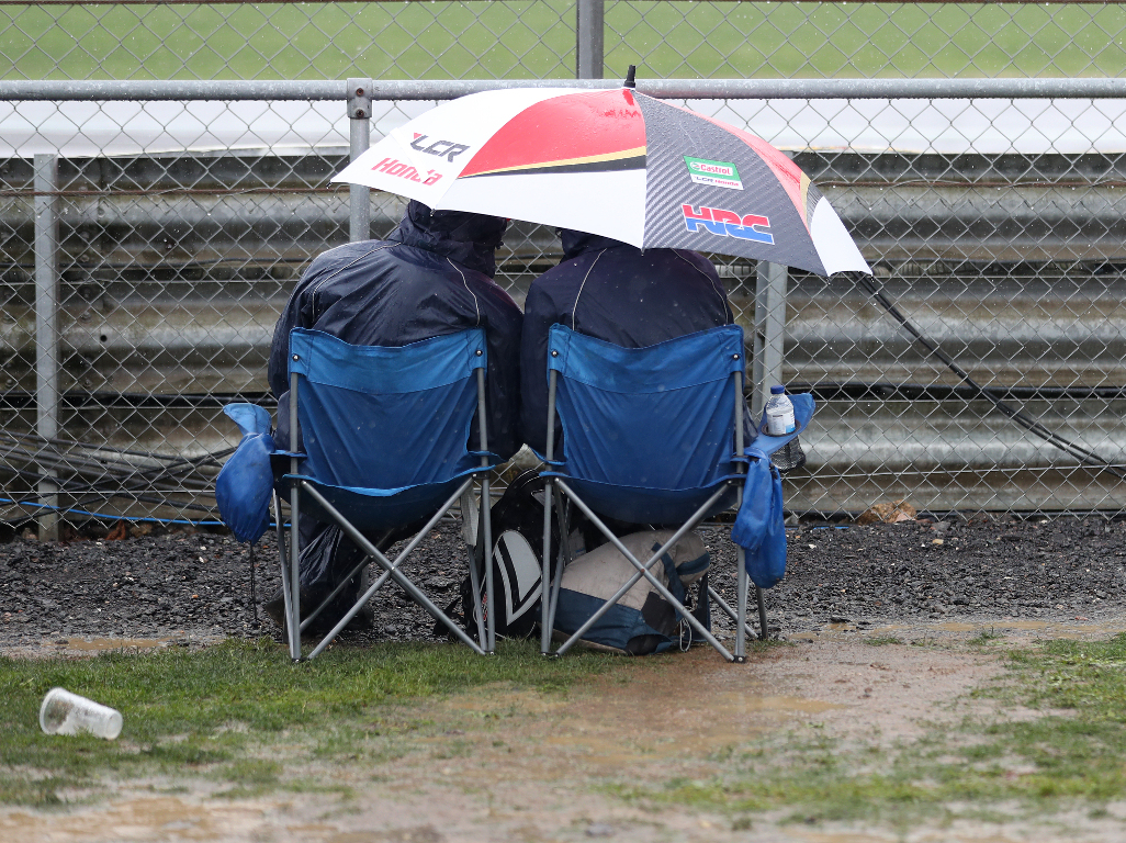
<svg viewBox="0 0 1126 843">
<path fill-rule="evenodd" d="M 542 572 L 544 556 L 544 485 L 536 469 L 520 473 L 501 499 L 493 504 L 492 568 L 493 598 L 495 600 L 497 635 L 506 638 L 527 638 L 540 619 Z M 554 508 L 553 508 L 554 509 Z M 558 560 L 558 520 L 552 519 L 552 576 Z M 477 542 L 474 563 L 481 583 L 481 602 L 484 597 L 484 559 L 482 542 Z M 473 612 L 473 589 L 470 577 L 462 582 L 463 622 L 470 635 L 476 635 L 477 621 Z M 482 606 L 488 618 L 490 607 Z"/>
</svg>

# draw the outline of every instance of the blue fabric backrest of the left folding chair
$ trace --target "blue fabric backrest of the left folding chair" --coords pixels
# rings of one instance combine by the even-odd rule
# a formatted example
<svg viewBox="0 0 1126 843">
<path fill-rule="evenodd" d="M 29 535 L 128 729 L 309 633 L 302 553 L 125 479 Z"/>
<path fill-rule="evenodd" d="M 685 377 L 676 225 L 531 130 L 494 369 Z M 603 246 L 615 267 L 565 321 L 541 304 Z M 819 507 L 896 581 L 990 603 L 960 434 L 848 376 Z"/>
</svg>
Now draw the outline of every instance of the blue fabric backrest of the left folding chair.
<svg viewBox="0 0 1126 843">
<path fill-rule="evenodd" d="M 334 486 L 396 490 L 471 469 L 480 463 L 468 450 L 475 373 L 486 359 L 480 328 L 400 347 L 352 346 L 294 329 L 289 371 L 298 375 L 302 474 Z"/>
</svg>

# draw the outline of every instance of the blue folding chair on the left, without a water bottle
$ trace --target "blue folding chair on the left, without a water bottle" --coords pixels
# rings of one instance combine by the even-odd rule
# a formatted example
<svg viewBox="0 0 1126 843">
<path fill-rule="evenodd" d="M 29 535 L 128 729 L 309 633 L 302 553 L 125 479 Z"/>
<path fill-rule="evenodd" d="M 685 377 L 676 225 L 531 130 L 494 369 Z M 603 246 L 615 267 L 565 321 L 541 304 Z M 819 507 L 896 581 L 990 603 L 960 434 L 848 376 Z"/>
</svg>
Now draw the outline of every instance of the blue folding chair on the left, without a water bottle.
<svg viewBox="0 0 1126 843">
<path fill-rule="evenodd" d="M 321 653 L 373 594 L 394 580 L 450 633 L 476 653 L 495 648 L 492 613 L 477 613 L 477 640 L 412 583 L 400 566 L 438 521 L 472 490 L 489 501 L 489 469 L 499 459 L 488 450 L 485 424 L 486 346 L 483 329 L 436 337 L 402 347 L 351 346 L 321 331 L 289 334 L 289 450 L 275 451 L 276 488 L 289 502 L 288 565 L 283 541 L 283 588 L 289 654 L 301 660 L 301 630 L 367 564 L 383 570 L 352 608 L 316 644 Z M 476 414 L 479 450 L 470 450 Z M 298 442 L 301 445 L 298 445 Z M 300 450 L 303 449 L 303 450 Z M 286 470 L 288 468 L 288 470 Z M 462 517 L 468 518 L 463 508 Z M 336 522 L 367 554 L 316 610 L 301 618 L 297 521 L 302 512 Z M 489 506 L 480 506 L 477 541 L 492 546 Z M 388 533 L 426 526 L 392 560 L 364 532 Z M 282 538 L 280 518 L 277 520 Z M 474 606 L 481 583 L 468 554 Z M 492 606 L 492 566 L 485 566 L 485 600 Z"/>
</svg>

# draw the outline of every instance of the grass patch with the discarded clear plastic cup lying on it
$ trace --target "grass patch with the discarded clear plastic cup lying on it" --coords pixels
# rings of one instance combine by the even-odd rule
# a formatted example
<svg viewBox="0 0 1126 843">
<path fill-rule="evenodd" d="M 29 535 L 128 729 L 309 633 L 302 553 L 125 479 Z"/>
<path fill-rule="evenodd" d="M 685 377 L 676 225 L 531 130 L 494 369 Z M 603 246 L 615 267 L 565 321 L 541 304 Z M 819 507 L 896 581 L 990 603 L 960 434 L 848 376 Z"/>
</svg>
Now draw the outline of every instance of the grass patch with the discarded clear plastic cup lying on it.
<svg viewBox="0 0 1126 843">
<path fill-rule="evenodd" d="M 0 658 L 0 804 L 57 805 L 96 791 L 107 772 L 188 772 L 230 782 L 230 796 L 262 792 L 286 784 L 272 744 L 307 744 L 312 761 L 377 757 L 396 751 L 381 738 L 426 725 L 385 721 L 392 703 L 490 683 L 565 692 L 610 664 L 628 670 L 597 654 L 545 660 L 527 642 L 506 643 L 490 658 L 450 645 L 333 647 L 298 665 L 269 640 L 82 660 Z M 38 707 L 55 685 L 120 710 L 120 737 L 44 735 Z"/>
</svg>

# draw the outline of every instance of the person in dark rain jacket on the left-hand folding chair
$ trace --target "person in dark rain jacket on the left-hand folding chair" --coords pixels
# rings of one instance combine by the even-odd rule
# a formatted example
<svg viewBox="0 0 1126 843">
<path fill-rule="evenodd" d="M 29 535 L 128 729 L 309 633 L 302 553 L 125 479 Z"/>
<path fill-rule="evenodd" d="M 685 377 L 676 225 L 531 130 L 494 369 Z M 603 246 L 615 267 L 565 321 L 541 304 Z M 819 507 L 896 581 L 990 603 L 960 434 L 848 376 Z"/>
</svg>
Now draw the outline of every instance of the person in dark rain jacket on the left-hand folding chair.
<svg viewBox="0 0 1126 843">
<path fill-rule="evenodd" d="M 521 313 L 493 281 L 495 250 L 508 221 L 461 210 L 431 210 L 411 201 L 399 228 L 385 241 L 331 249 L 309 267 L 274 330 L 269 384 L 278 398 L 277 447 L 289 448 L 289 331 L 324 331 L 356 346 L 405 346 L 483 326 L 488 342 L 485 398 L 489 450 L 508 459 L 519 432 L 519 343 Z M 476 440 L 476 420 L 472 440 Z M 476 449 L 475 441 L 470 442 Z M 383 537 L 386 547 L 397 536 Z M 421 524 L 419 524 L 421 527 Z M 338 527 L 302 515 L 301 606 L 312 611 L 363 554 Z M 376 537 L 372 537 L 373 541 Z M 318 616 L 331 628 L 358 597 L 358 577 Z M 280 592 L 265 608 L 279 625 Z M 356 618 L 364 618 L 364 613 Z M 322 620 L 323 618 L 323 620 Z M 370 622 L 370 616 L 366 617 Z M 358 625 L 363 625 L 363 620 Z"/>
</svg>

